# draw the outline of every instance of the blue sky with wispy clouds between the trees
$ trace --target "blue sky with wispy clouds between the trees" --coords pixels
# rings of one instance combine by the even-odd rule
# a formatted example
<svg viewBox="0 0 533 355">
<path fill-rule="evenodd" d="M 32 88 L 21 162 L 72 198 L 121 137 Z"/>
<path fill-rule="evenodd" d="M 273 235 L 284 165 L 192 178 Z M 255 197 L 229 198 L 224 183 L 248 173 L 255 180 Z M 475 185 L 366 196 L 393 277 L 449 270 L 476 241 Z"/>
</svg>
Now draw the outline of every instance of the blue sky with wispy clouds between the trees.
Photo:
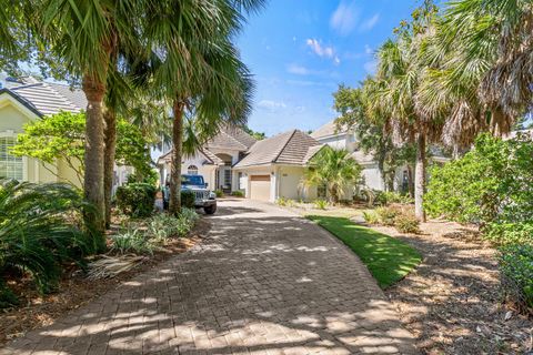
<svg viewBox="0 0 533 355">
<path fill-rule="evenodd" d="M 238 40 L 257 81 L 251 129 L 273 135 L 335 118 L 332 93 L 375 67 L 373 52 L 415 0 L 269 0 Z"/>
</svg>

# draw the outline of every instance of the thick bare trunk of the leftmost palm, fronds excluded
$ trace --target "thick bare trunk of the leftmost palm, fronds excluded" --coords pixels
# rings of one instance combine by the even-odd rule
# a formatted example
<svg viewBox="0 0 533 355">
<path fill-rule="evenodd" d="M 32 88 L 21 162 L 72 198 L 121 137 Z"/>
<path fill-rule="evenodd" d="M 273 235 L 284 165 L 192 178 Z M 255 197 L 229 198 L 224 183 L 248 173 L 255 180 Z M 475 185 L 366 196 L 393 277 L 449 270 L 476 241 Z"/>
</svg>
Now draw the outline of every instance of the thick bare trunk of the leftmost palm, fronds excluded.
<svg viewBox="0 0 533 355">
<path fill-rule="evenodd" d="M 105 204 L 103 190 L 103 115 L 102 103 L 105 94 L 105 82 L 92 75 L 84 75 L 83 92 L 87 97 L 86 112 L 86 176 L 83 190 L 86 199 L 91 202 L 95 211 L 88 213 L 87 219 L 95 232 L 105 231 Z M 105 240 L 99 242 L 97 248 L 105 247 Z"/>
</svg>

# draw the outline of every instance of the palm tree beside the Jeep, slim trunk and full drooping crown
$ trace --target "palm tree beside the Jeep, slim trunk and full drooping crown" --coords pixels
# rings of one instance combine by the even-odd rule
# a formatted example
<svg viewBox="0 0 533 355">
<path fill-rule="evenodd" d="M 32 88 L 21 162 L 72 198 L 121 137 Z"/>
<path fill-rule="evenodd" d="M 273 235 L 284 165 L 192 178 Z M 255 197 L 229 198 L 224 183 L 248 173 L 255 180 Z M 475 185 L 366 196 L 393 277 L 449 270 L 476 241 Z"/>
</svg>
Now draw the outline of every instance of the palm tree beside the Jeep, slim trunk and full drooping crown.
<svg viewBox="0 0 533 355">
<path fill-rule="evenodd" d="M 153 64 L 154 85 L 173 112 L 171 213 L 177 214 L 181 209 L 185 111 L 194 110 L 199 120 L 213 128 L 221 122 L 243 123 L 250 112 L 253 84 L 232 37 L 242 26 L 241 8 L 253 10 L 262 2 L 168 0 L 152 3 L 153 9 L 148 12 L 153 18 L 147 21 L 145 38 L 158 53 Z"/>
</svg>

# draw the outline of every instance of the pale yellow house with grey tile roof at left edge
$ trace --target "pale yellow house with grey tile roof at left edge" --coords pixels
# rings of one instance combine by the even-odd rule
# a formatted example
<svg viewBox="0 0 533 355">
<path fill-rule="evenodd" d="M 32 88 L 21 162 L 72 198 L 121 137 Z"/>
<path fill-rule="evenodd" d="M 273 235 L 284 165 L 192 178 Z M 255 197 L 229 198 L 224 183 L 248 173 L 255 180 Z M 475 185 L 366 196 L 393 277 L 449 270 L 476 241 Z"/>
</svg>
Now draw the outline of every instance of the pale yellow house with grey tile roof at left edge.
<svg viewBox="0 0 533 355">
<path fill-rule="evenodd" d="M 41 82 L 33 78 L 13 79 L 0 74 L 0 178 L 29 182 L 70 182 L 80 185 L 76 172 L 62 160 L 42 163 L 28 156 L 14 156 L 9 148 L 23 133 L 23 125 L 59 111 L 80 112 L 87 106 L 81 90 Z M 122 184 L 129 166 L 115 168 L 115 185 Z"/>
</svg>

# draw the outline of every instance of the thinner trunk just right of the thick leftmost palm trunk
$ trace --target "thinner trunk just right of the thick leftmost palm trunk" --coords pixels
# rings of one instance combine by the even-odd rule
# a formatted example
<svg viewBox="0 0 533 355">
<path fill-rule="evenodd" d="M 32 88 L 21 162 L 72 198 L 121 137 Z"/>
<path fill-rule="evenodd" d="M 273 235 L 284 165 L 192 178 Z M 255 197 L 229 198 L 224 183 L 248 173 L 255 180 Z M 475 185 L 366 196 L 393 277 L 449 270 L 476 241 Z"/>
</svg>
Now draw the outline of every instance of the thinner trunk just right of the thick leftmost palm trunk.
<svg viewBox="0 0 533 355">
<path fill-rule="evenodd" d="M 117 150 L 117 113 L 108 108 L 103 114 L 105 121 L 105 151 L 103 162 L 103 183 L 105 196 L 105 226 L 111 225 L 111 193 L 114 178 L 114 153 Z"/>
</svg>

